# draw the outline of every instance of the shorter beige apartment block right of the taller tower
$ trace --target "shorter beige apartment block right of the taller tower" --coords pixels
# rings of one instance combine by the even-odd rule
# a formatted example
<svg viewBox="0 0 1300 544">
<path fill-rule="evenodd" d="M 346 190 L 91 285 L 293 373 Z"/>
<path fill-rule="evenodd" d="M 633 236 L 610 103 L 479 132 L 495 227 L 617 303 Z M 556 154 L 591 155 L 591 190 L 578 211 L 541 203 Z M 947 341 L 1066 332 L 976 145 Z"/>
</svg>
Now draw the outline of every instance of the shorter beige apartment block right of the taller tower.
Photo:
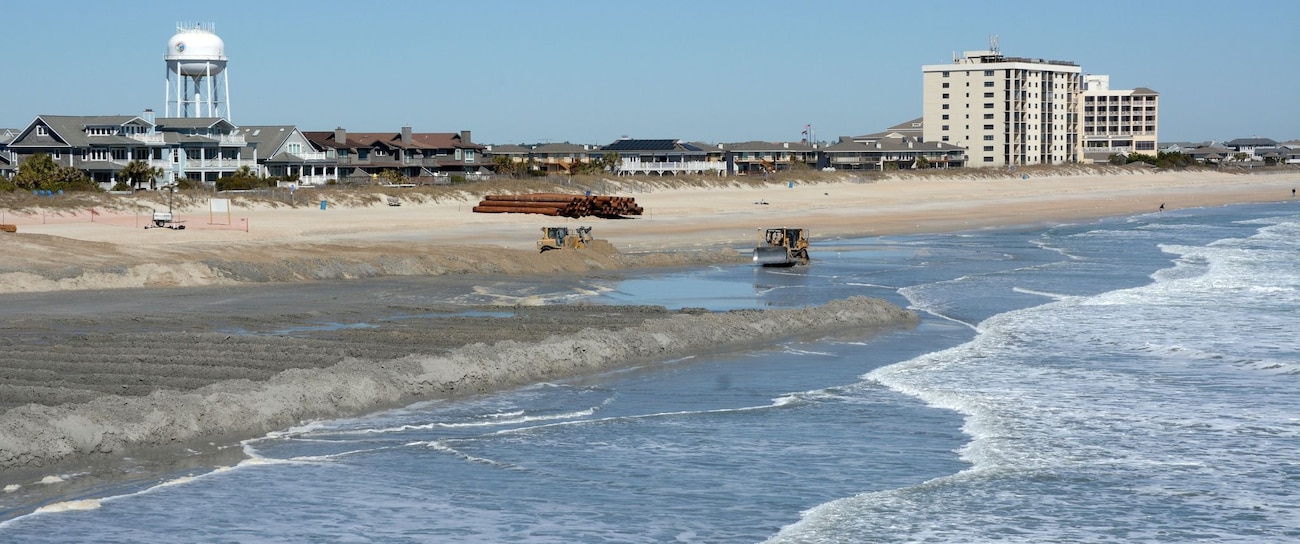
<svg viewBox="0 0 1300 544">
<path fill-rule="evenodd" d="M 1160 94 L 1138 87 L 1112 90 L 1110 75 L 1084 75 L 1082 163 L 1105 163 L 1112 155 L 1156 155 Z"/>
</svg>

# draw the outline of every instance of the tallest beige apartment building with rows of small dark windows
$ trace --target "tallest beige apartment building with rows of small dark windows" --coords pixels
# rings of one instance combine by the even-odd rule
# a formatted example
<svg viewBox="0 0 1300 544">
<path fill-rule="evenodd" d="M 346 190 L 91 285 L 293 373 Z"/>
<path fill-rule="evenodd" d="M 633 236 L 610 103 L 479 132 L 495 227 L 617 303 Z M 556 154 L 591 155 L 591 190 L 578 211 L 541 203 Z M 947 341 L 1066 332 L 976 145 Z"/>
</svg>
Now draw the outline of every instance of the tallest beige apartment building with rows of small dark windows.
<svg viewBox="0 0 1300 544">
<path fill-rule="evenodd" d="M 924 141 L 965 147 L 967 167 L 1079 160 L 1079 65 L 993 48 L 922 73 Z"/>
</svg>

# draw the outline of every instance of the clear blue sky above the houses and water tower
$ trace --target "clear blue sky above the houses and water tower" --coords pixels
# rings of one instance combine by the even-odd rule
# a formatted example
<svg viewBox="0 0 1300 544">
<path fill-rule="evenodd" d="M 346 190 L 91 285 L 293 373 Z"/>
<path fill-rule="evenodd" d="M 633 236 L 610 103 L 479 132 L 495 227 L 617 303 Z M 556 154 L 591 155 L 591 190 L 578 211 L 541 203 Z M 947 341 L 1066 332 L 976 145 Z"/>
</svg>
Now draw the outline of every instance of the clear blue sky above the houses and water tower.
<svg viewBox="0 0 1300 544">
<path fill-rule="evenodd" d="M 164 108 L 211 22 L 237 125 L 472 130 L 478 143 L 797 141 L 920 116 L 920 66 L 984 49 L 1161 94 L 1161 141 L 1300 138 L 1300 3 L 10 1 L 0 128 Z"/>
</svg>

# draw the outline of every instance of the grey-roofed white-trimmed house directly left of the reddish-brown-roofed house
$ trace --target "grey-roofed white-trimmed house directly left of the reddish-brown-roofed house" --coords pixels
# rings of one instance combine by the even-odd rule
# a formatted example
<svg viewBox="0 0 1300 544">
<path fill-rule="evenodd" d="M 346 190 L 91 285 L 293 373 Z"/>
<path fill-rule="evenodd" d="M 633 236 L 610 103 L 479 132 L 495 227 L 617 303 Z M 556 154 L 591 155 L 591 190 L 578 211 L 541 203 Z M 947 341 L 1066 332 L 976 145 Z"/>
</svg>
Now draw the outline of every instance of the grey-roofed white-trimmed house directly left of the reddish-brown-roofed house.
<svg viewBox="0 0 1300 544">
<path fill-rule="evenodd" d="M 338 163 L 294 125 L 252 125 L 235 129 L 243 135 L 243 156 L 257 164 L 260 176 L 298 186 L 320 186 L 338 178 Z"/>
</svg>

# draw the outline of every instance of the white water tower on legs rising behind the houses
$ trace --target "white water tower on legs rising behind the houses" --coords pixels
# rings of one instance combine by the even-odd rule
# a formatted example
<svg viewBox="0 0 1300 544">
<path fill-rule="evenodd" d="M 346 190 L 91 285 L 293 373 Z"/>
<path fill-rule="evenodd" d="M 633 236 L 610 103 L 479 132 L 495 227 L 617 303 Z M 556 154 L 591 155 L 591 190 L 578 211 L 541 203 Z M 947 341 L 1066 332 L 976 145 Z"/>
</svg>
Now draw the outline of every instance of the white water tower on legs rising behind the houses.
<svg viewBox="0 0 1300 544">
<path fill-rule="evenodd" d="M 164 117 L 221 117 L 230 121 L 226 44 L 209 25 L 177 25 L 166 40 Z"/>
</svg>

